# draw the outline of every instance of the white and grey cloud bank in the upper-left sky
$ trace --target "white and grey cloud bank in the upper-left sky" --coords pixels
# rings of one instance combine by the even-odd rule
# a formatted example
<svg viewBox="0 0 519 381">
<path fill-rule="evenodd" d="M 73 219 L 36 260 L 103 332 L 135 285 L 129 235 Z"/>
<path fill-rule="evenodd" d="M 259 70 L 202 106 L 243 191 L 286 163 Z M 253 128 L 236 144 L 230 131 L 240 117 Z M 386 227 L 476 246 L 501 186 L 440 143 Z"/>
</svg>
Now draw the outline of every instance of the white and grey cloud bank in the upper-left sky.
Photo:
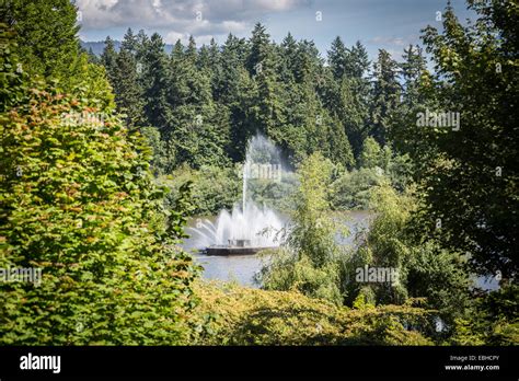
<svg viewBox="0 0 519 381">
<path fill-rule="evenodd" d="M 310 0 L 77 0 L 81 26 L 159 31 L 169 43 L 250 31 L 262 16 L 310 7 Z M 197 38 L 198 39 L 198 38 Z"/>
</svg>

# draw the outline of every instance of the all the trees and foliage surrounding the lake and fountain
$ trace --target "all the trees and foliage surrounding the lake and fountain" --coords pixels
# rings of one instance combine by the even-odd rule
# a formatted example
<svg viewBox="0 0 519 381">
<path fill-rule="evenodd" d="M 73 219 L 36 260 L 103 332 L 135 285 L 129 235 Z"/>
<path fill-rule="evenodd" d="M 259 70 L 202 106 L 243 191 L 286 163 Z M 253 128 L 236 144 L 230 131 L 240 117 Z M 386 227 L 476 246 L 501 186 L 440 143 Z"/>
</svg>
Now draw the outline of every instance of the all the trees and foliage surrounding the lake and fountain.
<svg viewBox="0 0 519 381">
<path fill-rule="evenodd" d="M 0 279 L 0 344 L 517 345 L 519 8 L 466 7 L 370 60 L 261 23 L 97 56 L 72 2 L 2 2 L 0 269 L 42 279 Z M 256 135 L 292 173 L 257 190 L 290 229 L 260 288 L 208 281 L 187 224 L 240 203 Z M 351 210 L 373 218 L 345 246 Z"/>
</svg>

